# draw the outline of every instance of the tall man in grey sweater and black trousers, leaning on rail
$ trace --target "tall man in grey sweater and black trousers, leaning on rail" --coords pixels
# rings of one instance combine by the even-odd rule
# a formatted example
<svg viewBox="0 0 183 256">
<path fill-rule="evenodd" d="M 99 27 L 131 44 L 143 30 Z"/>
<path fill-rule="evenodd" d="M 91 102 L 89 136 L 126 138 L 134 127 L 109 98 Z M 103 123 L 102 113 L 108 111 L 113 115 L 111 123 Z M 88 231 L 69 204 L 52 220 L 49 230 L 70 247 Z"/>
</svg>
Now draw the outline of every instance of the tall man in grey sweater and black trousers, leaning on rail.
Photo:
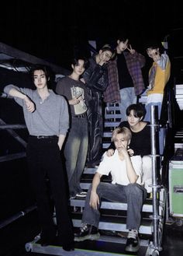
<svg viewBox="0 0 183 256">
<path fill-rule="evenodd" d="M 30 183 L 36 196 L 40 217 L 42 246 L 53 244 L 56 238 L 64 250 L 74 250 L 74 234 L 67 208 L 67 192 L 64 171 L 60 159 L 67 129 L 69 115 L 67 102 L 63 96 L 48 89 L 50 79 L 47 67 L 37 65 L 31 75 L 36 89 L 5 86 L 5 93 L 14 97 L 22 106 L 29 141 L 26 149 Z M 57 230 L 53 223 L 50 198 L 47 195 L 47 178 L 57 217 Z"/>
</svg>

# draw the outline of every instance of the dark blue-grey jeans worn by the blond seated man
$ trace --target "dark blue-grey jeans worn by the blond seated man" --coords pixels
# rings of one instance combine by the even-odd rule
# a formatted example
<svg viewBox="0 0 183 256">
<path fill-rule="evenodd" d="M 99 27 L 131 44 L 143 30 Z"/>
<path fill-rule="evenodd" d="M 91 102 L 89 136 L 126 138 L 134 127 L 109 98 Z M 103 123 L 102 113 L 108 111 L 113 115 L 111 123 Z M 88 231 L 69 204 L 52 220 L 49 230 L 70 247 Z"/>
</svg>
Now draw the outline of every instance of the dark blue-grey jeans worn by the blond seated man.
<svg viewBox="0 0 183 256">
<path fill-rule="evenodd" d="M 120 184 L 109 184 L 101 182 L 98 184 L 97 194 L 100 202 L 102 198 L 105 198 L 111 202 L 127 202 L 128 208 L 126 229 L 139 230 L 143 200 L 145 200 L 147 196 L 147 191 L 145 188 L 139 184 L 128 184 L 127 186 L 123 186 Z M 97 210 L 91 208 L 89 205 L 90 195 L 91 186 L 88 190 L 85 201 L 82 223 L 87 223 L 98 227 L 100 219 L 100 205 L 98 205 Z"/>
</svg>

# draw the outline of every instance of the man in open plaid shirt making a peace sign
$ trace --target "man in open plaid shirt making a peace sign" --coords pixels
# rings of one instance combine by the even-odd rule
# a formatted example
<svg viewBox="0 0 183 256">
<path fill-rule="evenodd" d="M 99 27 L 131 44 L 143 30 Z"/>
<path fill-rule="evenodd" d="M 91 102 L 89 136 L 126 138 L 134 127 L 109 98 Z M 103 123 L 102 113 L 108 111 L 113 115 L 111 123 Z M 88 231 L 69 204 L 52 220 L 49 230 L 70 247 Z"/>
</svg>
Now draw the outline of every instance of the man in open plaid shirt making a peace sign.
<svg viewBox="0 0 183 256">
<path fill-rule="evenodd" d="M 136 103 L 136 96 L 144 89 L 142 70 L 145 57 L 136 52 L 127 37 L 117 40 L 116 58 L 109 62 L 109 86 L 104 92 L 106 103 L 119 103 L 122 121 L 126 120 L 126 108 Z"/>
</svg>

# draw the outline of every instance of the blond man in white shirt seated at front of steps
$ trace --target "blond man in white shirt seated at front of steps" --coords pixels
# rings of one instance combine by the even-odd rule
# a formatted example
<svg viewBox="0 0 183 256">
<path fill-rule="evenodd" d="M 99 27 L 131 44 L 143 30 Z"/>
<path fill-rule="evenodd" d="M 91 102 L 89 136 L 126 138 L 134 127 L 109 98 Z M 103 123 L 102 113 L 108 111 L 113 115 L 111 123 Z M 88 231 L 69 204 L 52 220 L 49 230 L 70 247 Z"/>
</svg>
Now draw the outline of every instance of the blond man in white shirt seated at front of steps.
<svg viewBox="0 0 183 256">
<path fill-rule="evenodd" d="M 104 153 L 102 162 L 96 170 L 92 184 L 88 189 L 81 228 L 74 234 L 75 241 L 97 240 L 100 205 L 102 198 L 112 202 L 126 202 L 126 229 L 129 234 L 126 240 L 126 251 L 138 251 L 138 230 L 140 227 L 141 209 L 147 191 L 141 183 L 141 157 L 129 156 L 128 145 L 131 139 L 129 128 L 116 128 L 112 132 L 112 141 L 116 150 L 113 156 Z M 102 175 L 112 176 L 112 184 L 100 182 Z"/>
</svg>

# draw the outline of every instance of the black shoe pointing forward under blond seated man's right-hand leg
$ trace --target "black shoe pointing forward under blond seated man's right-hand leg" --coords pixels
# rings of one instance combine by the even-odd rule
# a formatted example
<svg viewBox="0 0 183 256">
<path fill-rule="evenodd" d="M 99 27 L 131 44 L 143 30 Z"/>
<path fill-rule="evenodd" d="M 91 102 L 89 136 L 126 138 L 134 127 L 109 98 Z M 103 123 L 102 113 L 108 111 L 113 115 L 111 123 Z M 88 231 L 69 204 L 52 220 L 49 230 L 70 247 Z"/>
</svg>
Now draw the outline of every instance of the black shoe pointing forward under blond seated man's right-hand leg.
<svg viewBox="0 0 183 256">
<path fill-rule="evenodd" d="M 137 230 L 129 230 L 126 240 L 125 251 L 136 252 L 139 251 L 139 237 Z"/>
</svg>

